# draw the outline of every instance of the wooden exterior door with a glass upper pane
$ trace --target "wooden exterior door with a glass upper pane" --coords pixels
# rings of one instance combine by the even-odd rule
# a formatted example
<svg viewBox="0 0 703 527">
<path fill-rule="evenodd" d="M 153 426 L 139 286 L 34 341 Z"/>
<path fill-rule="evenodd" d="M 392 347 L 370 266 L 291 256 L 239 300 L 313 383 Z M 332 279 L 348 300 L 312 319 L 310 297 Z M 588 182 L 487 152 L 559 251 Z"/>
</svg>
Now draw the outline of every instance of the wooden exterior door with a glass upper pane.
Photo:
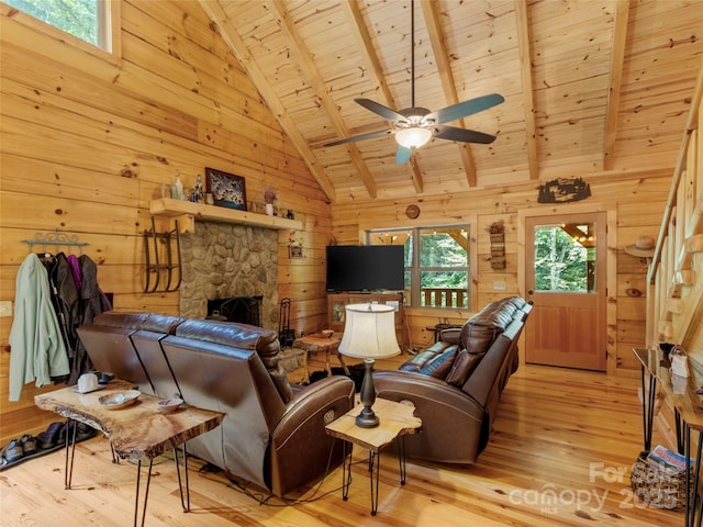
<svg viewBox="0 0 703 527">
<path fill-rule="evenodd" d="M 606 214 L 525 218 L 528 363 L 605 371 Z"/>
</svg>

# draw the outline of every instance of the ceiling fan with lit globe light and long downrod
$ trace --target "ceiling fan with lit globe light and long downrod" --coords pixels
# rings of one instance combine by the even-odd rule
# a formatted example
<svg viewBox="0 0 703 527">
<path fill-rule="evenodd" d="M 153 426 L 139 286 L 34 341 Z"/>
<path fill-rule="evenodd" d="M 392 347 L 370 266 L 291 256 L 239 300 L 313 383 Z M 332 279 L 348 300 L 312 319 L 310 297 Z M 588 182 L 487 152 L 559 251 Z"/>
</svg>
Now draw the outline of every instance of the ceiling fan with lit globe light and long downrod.
<svg viewBox="0 0 703 527">
<path fill-rule="evenodd" d="M 476 132 L 473 130 L 457 128 L 455 126 L 445 126 L 458 119 L 472 115 L 475 113 L 488 110 L 496 104 L 502 103 L 505 99 L 498 93 L 477 97 L 468 101 L 458 102 L 449 106 L 432 112 L 426 108 L 415 106 L 415 15 L 414 0 L 411 0 L 411 108 L 403 110 L 391 110 L 383 104 L 371 101 L 370 99 L 357 98 L 354 101 L 367 110 L 387 119 L 393 123 L 392 130 L 382 130 L 379 132 L 370 132 L 368 134 L 355 135 L 344 139 L 332 141 L 323 146 L 336 146 L 344 143 L 370 139 L 373 137 L 382 137 L 384 135 L 394 135 L 398 143 L 395 152 L 395 162 L 401 165 L 410 159 L 415 148 L 427 144 L 433 137 L 440 139 L 459 141 L 461 143 L 480 143 L 490 144 L 495 141 L 494 135 Z"/>
</svg>

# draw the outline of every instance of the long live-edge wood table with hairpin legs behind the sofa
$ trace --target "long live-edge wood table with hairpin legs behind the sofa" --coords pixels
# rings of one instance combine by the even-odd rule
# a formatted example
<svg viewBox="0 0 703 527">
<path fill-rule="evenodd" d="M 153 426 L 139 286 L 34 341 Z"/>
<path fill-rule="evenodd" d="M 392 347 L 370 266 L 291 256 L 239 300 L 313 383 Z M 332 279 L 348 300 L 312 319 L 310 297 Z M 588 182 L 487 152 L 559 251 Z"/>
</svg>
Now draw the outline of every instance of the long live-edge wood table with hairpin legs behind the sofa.
<svg viewBox="0 0 703 527">
<path fill-rule="evenodd" d="M 137 525 L 140 508 L 140 475 L 142 461 L 148 460 L 148 473 L 144 489 L 144 504 L 142 506 L 142 526 L 146 516 L 146 503 L 152 479 L 154 458 L 167 450 L 174 449 L 176 470 L 178 471 L 178 486 L 183 512 L 190 509 L 190 490 L 188 485 L 188 458 L 186 441 L 201 434 L 212 430 L 222 422 L 224 414 L 209 410 L 197 408 L 183 404 L 171 413 L 161 412 L 157 403 L 158 397 L 141 394 L 140 399 L 129 406 L 110 410 L 99 403 L 99 399 L 112 392 L 133 389 L 133 384 L 113 380 L 103 390 L 91 393 L 78 393 L 74 386 L 54 392 L 35 395 L 35 404 L 42 408 L 55 412 L 68 418 L 66 434 L 66 473 L 65 486 L 70 489 L 74 471 L 74 453 L 76 449 L 76 422 L 85 423 L 102 431 L 110 439 L 113 461 L 119 458 L 137 462 L 136 497 L 134 501 L 134 525 Z M 186 500 L 178 466 L 178 446 L 182 447 L 183 468 L 186 472 Z"/>
</svg>

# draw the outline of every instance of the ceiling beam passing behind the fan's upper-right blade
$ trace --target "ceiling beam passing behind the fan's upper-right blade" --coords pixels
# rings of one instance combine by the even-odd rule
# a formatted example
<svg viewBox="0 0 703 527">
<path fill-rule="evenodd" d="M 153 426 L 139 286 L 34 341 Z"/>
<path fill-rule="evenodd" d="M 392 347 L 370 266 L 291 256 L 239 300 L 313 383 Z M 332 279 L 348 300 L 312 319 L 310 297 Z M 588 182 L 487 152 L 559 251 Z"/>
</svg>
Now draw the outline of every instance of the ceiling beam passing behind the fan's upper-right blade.
<svg viewBox="0 0 703 527">
<path fill-rule="evenodd" d="M 437 65 L 437 71 L 442 81 L 444 97 L 447 100 L 447 105 L 450 105 L 456 104 L 460 101 L 459 97 L 457 96 L 457 87 L 454 81 L 454 75 L 451 75 L 449 54 L 447 53 L 447 46 L 442 34 L 442 26 L 439 25 L 438 3 L 439 2 L 420 2 L 420 4 L 422 5 L 422 13 L 425 19 L 425 24 L 427 25 L 429 43 L 432 44 L 432 52 L 435 56 L 435 63 Z M 459 127 L 466 127 L 464 119 L 459 119 L 458 123 Z M 464 171 L 466 173 L 467 182 L 469 183 L 469 187 L 476 187 L 476 165 L 473 162 L 471 147 L 467 143 L 457 143 L 457 146 L 461 155 L 461 162 L 464 165 Z"/>
</svg>

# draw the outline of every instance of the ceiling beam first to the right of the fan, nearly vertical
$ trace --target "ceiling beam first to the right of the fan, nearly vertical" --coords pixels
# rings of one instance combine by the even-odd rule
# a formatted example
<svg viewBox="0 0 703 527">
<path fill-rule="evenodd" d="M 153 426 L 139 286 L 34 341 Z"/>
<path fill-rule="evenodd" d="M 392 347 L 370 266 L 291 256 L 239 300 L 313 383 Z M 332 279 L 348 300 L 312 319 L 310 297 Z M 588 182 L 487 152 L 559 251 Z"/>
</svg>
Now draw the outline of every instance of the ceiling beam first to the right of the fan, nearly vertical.
<svg viewBox="0 0 703 527">
<path fill-rule="evenodd" d="M 534 80 L 532 75 L 532 35 L 529 34 L 529 16 L 525 0 L 515 0 L 515 24 L 517 29 L 520 69 L 523 80 L 527 169 L 529 179 L 537 180 L 539 179 L 539 160 L 537 158 L 537 128 L 535 125 Z"/>
</svg>

